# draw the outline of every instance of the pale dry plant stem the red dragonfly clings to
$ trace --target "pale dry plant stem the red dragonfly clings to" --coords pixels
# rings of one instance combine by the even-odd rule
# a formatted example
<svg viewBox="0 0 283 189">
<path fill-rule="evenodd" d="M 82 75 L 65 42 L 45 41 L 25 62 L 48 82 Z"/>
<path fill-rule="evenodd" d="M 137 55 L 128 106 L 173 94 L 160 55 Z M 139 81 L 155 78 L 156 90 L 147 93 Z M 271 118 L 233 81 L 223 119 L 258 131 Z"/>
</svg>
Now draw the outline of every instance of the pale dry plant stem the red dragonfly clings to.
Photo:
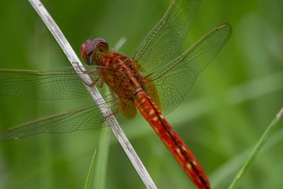
<svg viewBox="0 0 283 189">
<path fill-rule="evenodd" d="M 132 165 L 136 169 L 141 180 L 144 182 L 144 185 L 146 185 L 146 188 L 156 188 L 156 185 L 154 185 L 154 182 L 149 176 L 149 173 L 146 171 L 146 168 L 144 168 L 144 165 L 141 163 L 139 156 L 137 156 L 137 153 L 134 151 L 132 145 L 129 143 L 129 140 L 125 136 L 125 133 L 122 131 L 120 125 L 118 124 L 115 117 L 112 115 L 110 109 L 106 105 L 105 101 L 103 100 L 98 90 L 95 87 L 88 87 L 86 85 L 86 84 L 91 84 L 92 80 L 87 74 L 83 74 L 84 71 L 83 65 L 81 64 L 79 58 L 76 56 L 74 50 L 69 45 L 67 39 L 64 37 L 62 31 L 58 28 L 57 24 L 54 22 L 50 14 L 47 12 L 45 7 L 41 4 L 39 0 L 28 0 L 28 1 L 33 6 L 37 14 L 40 16 L 42 21 L 45 23 L 47 28 L 50 30 L 50 33 L 52 33 L 55 40 L 57 40 L 64 54 L 69 59 L 69 62 L 71 62 L 71 65 L 76 70 L 76 73 L 79 74 L 79 76 L 81 76 L 81 79 L 83 80 L 83 84 L 86 86 L 88 92 L 91 94 L 93 101 L 95 101 L 96 104 L 98 104 L 98 108 L 100 109 L 101 113 L 103 113 L 103 116 L 105 117 L 108 125 L 110 125 L 112 132 L 114 132 L 115 137 L 120 142 L 120 145 L 124 149 L 129 160 L 132 162 Z"/>
</svg>

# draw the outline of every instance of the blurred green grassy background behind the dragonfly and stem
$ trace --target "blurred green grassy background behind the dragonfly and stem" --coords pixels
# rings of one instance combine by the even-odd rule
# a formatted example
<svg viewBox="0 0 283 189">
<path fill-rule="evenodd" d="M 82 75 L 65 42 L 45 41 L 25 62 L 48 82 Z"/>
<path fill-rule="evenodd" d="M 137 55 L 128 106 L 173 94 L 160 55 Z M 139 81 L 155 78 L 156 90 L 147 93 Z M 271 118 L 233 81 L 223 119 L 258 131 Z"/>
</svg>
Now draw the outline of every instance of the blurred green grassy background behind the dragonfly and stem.
<svg viewBox="0 0 283 189">
<path fill-rule="evenodd" d="M 132 57 L 170 1 L 42 1 L 80 55 L 88 38 L 105 38 Z M 283 1 L 202 1 L 182 50 L 219 23 L 232 35 L 199 76 L 168 121 L 194 152 L 213 188 L 227 188 L 251 148 L 283 105 Z M 28 1 L 0 6 L 1 68 L 69 67 L 67 58 Z M 0 88 L 1 90 L 1 88 Z M 91 102 L 33 101 L 1 96 L 0 128 L 62 113 Z M 83 123 L 82 123 L 83 124 Z M 279 122 L 282 126 L 282 121 Z M 123 128 L 158 188 L 194 188 L 151 127 L 138 116 Z M 108 142 L 100 138 L 108 136 Z M 283 130 L 278 127 L 251 166 L 240 188 L 281 188 Z M 107 141 L 104 138 L 104 140 Z M 108 149 L 109 147 L 109 149 Z M 96 184 L 105 188 L 144 188 L 109 128 L 71 134 L 40 134 L 0 144 L 0 188 L 83 188 L 94 149 Z M 104 151 L 104 152 L 103 152 Z M 106 151 L 106 152 L 105 152 Z M 108 156 L 108 157 L 107 157 Z M 105 174 L 105 181 L 100 176 Z M 91 183 L 93 186 L 93 181 Z"/>
</svg>

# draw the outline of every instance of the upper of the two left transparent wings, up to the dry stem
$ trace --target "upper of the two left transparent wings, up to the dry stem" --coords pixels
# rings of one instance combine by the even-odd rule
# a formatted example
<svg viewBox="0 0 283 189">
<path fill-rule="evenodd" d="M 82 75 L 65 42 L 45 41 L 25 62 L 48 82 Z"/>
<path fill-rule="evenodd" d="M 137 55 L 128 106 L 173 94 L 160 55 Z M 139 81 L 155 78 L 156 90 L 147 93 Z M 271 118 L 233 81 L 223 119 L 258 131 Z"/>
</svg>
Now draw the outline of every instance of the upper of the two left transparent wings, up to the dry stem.
<svg viewBox="0 0 283 189">
<path fill-rule="evenodd" d="M 64 100 L 87 94 L 72 67 L 52 71 L 0 69 L 0 95 Z"/>
</svg>

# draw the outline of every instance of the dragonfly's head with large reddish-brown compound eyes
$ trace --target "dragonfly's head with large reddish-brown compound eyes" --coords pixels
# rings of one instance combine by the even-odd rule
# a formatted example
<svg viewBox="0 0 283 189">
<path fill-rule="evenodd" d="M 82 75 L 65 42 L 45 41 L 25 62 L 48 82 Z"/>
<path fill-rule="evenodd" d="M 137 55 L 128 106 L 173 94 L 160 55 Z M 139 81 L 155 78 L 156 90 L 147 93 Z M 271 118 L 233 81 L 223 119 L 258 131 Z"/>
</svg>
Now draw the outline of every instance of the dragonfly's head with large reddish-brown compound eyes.
<svg viewBox="0 0 283 189">
<path fill-rule="evenodd" d="M 99 65 L 100 59 L 104 55 L 107 55 L 108 51 L 108 42 L 101 38 L 86 40 L 86 42 L 81 45 L 81 57 L 83 57 L 83 62 L 88 65 Z"/>
</svg>

